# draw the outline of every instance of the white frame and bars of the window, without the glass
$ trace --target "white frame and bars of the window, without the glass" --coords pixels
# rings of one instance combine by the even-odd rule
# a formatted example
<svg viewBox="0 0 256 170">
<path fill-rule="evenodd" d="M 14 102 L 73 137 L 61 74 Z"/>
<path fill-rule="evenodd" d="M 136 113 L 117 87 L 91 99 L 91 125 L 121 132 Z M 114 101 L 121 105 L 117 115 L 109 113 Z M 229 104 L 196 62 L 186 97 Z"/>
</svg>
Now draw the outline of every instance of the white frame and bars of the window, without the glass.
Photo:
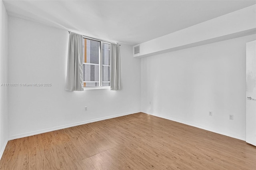
<svg viewBox="0 0 256 170">
<path fill-rule="evenodd" d="M 84 39 L 88 39 L 88 40 L 94 40 L 94 41 L 97 41 L 97 42 L 100 42 L 100 46 L 99 46 L 99 64 L 94 64 L 94 63 L 83 63 L 84 64 L 87 64 L 87 65 L 99 65 L 99 80 L 100 81 L 83 81 L 83 83 L 93 83 L 93 82 L 99 82 L 100 86 L 96 86 L 96 87 L 83 87 L 84 90 L 92 90 L 92 89 L 110 89 L 110 86 L 103 86 L 103 66 L 109 66 L 110 67 L 110 73 L 111 73 L 111 49 L 110 49 L 110 62 L 109 62 L 109 65 L 103 65 L 102 64 L 102 59 L 103 59 L 103 54 L 102 54 L 102 49 L 103 49 L 103 43 L 107 43 L 110 45 L 110 42 L 106 42 L 106 41 L 103 41 L 103 40 L 97 40 L 97 39 L 94 39 L 94 38 L 89 38 L 89 37 L 86 37 L 86 36 L 83 36 Z M 84 76 L 84 75 L 83 75 Z M 110 83 L 110 81 L 107 81 L 108 83 Z"/>
</svg>

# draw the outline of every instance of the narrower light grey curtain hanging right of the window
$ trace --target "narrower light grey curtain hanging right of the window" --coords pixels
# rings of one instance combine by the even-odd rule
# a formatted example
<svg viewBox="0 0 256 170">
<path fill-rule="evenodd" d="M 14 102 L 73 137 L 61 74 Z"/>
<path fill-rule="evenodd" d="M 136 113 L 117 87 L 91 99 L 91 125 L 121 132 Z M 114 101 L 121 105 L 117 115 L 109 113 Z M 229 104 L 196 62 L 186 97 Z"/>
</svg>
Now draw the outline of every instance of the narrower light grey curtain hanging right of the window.
<svg viewBox="0 0 256 170">
<path fill-rule="evenodd" d="M 110 90 L 121 89 L 121 63 L 119 44 L 111 43 L 111 77 Z"/>
</svg>

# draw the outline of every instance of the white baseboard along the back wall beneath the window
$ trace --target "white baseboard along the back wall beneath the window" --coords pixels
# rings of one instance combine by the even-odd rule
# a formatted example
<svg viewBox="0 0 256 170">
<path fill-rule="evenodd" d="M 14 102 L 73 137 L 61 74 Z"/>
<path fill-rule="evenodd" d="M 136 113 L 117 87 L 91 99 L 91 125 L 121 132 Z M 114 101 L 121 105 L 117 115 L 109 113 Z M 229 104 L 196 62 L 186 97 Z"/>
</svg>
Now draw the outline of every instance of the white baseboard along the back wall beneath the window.
<svg viewBox="0 0 256 170">
<path fill-rule="evenodd" d="M 54 130 L 60 130 L 60 129 L 69 128 L 69 127 L 75 127 L 75 126 L 84 125 L 84 124 L 87 124 L 87 123 L 103 121 L 103 120 L 112 119 L 112 118 L 115 118 L 115 117 L 131 115 L 131 114 L 139 113 L 139 112 L 140 111 L 127 112 L 127 113 L 122 113 L 122 114 L 118 114 L 118 115 L 112 115 L 112 116 L 101 117 L 101 118 L 97 118 L 97 119 L 91 119 L 91 120 L 88 120 L 88 121 L 71 123 L 71 124 L 68 124 L 68 125 L 62 125 L 62 126 L 58 126 L 58 127 L 52 127 L 52 128 L 42 129 L 42 130 L 36 130 L 36 131 L 33 131 L 33 132 L 16 134 L 16 135 L 9 136 L 9 140 L 18 139 L 18 138 L 24 138 L 24 137 L 27 137 L 27 136 L 32 136 L 32 135 L 36 135 L 36 134 L 51 132 L 51 131 L 54 131 Z"/>
</svg>

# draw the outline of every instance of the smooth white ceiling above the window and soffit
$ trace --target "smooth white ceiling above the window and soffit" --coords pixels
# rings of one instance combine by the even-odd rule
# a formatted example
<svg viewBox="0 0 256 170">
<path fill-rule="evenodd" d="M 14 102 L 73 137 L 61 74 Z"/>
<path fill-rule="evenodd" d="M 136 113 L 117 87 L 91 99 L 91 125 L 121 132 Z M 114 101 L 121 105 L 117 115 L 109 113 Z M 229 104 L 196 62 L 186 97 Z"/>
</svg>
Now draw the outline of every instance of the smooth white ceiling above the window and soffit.
<svg viewBox="0 0 256 170">
<path fill-rule="evenodd" d="M 4 0 L 9 16 L 136 45 L 256 4 L 256 0 Z"/>
</svg>

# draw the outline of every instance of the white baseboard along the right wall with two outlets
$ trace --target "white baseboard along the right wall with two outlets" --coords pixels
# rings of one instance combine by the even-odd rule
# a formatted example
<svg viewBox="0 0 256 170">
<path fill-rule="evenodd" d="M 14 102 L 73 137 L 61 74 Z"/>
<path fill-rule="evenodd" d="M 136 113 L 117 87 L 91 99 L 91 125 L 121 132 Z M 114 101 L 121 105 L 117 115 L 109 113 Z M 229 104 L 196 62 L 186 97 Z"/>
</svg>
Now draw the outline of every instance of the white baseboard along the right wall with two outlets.
<svg viewBox="0 0 256 170">
<path fill-rule="evenodd" d="M 145 112 L 142 112 L 142 113 L 145 113 Z M 157 114 L 150 114 L 150 113 L 147 113 L 147 114 L 152 115 L 152 116 L 156 116 L 156 117 L 161 117 L 161 118 L 164 118 L 164 119 L 168 119 L 170 121 L 182 123 L 182 124 L 185 124 L 185 125 L 189 125 L 189 126 L 192 126 L 192 127 L 201 128 L 201 129 L 204 129 L 204 130 L 208 130 L 210 132 L 223 134 L 225 136 L 229 136 L 229 137 L 232 137 L 232 138 L 236 138 L 236 139 L 240 139 L 240 140 L 244 140 L 244 141 L 246 140 L 245 136 L 240 136 L 240 135 L 233 134 L 233 133 L 230 133 L 230 132 L 226 132 L 226 131 L 223 131 L 223 130 L 220 130 L 220 129 L 212 129 L 212 128 L 208 128 L 208 127 L 203 127 L 201 125 L 196 125 L 196 124 L 191 123 L 191 122 L 182 121 L 182 120 L 179 120 L 179 119 L 174 119 L 172 117 L 166 117 L 166 116 L 157 115 Z"/>
</svg>

